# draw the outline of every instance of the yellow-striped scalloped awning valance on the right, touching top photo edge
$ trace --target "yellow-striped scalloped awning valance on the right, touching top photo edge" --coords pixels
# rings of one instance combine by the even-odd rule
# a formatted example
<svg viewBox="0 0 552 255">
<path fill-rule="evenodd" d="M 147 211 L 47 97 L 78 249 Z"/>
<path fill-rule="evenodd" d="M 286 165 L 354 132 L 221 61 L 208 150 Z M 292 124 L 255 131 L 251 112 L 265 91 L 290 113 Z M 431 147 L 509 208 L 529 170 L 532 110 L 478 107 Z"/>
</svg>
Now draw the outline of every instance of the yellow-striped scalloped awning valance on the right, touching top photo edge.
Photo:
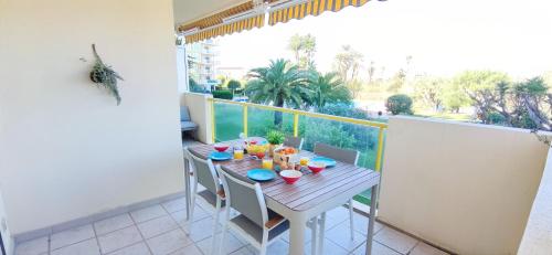
<svg viewBox="0 0 552 255">
<path fill-rule="evenodd" d="M 270 12 L 268 24 L 286 23 L 291 19 L 300 20 L 307 15 L 319 15 L 325 11 L 340 11 L 346 7 L 361 7 L 369 0 L 310 0 L 308 2 Z"/>
</svg>

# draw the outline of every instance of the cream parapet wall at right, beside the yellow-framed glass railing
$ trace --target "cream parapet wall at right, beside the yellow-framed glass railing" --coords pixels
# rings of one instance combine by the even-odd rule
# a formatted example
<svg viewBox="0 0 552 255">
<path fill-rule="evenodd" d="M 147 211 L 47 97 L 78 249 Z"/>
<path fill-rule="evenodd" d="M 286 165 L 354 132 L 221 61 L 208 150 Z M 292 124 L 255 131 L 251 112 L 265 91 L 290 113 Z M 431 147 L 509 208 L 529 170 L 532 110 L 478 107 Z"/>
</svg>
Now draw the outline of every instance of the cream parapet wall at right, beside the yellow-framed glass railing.
<svg viewBox="0 0 552 255">
<path fill-rule="evenodd" d="M 389 125 L 379 219 L 459 254 L 516 254 L 548 147 L 521 129 Z"/>
</svg>

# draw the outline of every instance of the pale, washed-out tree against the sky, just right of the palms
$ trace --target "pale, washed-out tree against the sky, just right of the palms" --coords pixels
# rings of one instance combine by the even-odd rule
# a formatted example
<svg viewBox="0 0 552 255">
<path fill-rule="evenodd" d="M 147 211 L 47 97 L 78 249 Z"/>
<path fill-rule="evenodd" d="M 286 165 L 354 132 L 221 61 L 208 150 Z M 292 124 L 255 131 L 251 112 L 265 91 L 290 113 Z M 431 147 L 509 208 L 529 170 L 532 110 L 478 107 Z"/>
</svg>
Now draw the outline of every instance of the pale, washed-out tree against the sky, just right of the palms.
<svg viewBox="0 0 552 255">
<path fill-rule="evenodd" d="M 342 51 L 336 55 L 335 65 L 343 82 L 357 78 L 363 59 L 364 56 L 350 45 L 342 46 Z"/>
</svg>

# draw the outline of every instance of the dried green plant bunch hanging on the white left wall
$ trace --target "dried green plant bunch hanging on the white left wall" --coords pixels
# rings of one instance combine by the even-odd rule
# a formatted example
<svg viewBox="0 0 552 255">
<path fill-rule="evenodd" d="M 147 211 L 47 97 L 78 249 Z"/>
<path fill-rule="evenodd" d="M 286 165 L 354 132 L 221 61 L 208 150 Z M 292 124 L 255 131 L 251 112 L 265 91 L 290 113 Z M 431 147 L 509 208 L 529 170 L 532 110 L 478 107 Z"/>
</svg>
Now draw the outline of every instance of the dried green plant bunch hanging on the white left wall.
<svg viewBox="0 0 552 255">
<path fill-rule="evenodd" d="M 94 57 L 96 59 L 94 66 L 91 72 L 92 82 L 98 84 L 100 87 L 105 87 L 112 93 L 112 95 L 117 99 L 117 105 L 120 104 L 119 89 L 117 88 L 117 79 L 125 81 L 123 77 L 115 72 L 112 66 L 104 64 L 98 53 L 96 52 L 96 45 L 92 44 L 92 51 L 94 52 Z"/>
</svg>

